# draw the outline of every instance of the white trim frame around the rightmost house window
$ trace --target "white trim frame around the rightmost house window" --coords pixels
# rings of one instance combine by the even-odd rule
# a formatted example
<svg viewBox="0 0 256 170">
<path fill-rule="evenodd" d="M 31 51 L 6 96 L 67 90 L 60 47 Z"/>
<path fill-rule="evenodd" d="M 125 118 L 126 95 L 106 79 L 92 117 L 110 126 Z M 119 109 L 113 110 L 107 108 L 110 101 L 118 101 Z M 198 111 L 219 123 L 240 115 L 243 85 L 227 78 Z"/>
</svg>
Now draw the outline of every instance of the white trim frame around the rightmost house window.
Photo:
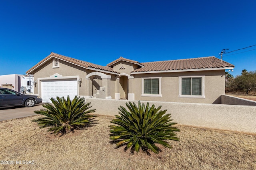
<svg viewBox="0 0 256 170">
<path fill-rule="evenodd" d="M 202 95 L 182 95 L 182 78 L 202 78 Z M 179 98 L 201 98 L 205 99 L 204 95 L 204 78 L 205 76 L 179 76 Z"/>
</svg>

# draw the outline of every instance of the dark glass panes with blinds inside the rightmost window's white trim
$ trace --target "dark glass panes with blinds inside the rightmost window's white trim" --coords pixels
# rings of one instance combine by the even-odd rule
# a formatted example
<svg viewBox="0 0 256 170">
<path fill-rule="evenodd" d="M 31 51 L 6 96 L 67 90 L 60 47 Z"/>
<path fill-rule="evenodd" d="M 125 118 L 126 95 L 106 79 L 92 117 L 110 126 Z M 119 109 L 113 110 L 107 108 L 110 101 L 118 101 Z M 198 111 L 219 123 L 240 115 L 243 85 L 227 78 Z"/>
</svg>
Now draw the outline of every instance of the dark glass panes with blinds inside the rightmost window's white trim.
<svg viewBox="0 0 256 170">
<path fill-rule="evenodd" d="M 182 95 L 202 95 L 202 78 L 182 78 Z"/>
</svg>

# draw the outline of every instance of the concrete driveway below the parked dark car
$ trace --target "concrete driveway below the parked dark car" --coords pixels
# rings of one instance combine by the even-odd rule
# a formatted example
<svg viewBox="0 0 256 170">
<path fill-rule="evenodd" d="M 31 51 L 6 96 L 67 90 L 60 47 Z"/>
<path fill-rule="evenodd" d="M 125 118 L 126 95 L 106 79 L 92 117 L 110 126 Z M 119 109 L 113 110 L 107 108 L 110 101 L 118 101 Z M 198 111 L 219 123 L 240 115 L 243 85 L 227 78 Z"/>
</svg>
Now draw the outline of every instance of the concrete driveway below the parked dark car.
<svg viewBox="0 0 256 170">
<path fill-rule="evenodd" d="M 43 104 L 38 104 L 34 107 L 16 106 L 0 108 L 0 121 L 36 115 L 34 110 L 44 108 Z"/>
</svg>

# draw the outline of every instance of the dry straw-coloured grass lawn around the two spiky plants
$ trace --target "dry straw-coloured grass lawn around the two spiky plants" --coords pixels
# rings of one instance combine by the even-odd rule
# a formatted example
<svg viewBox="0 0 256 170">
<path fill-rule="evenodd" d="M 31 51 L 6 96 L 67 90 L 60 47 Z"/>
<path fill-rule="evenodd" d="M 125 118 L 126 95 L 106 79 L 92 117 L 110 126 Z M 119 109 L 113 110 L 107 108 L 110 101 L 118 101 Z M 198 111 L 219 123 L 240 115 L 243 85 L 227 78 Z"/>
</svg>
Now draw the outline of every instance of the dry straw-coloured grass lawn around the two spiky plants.
<svg viewBox="0 0 256 170">
<path fill-rule="evenodd" d="M 34 160 L 34 164 L 0 164 L 8 170 L 255 170 L 256 136 L 229 131 L 178 126 L 180 142 L 151 156 L 124 152 L 110 144 L 113 117 L 99 116 L 98 124 L 56 137 L 39 129 L 32 119 L 0 122 L 0 160 Z"/>
</svg>

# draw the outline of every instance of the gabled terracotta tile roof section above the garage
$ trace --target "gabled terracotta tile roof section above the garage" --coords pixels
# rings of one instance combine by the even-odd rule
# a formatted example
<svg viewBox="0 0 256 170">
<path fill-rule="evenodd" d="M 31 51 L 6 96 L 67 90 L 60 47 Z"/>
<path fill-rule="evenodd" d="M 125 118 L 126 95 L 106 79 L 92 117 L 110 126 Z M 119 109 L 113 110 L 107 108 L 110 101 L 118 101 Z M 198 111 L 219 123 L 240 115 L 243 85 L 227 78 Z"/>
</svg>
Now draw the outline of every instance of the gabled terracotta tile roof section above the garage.
<svg viewBox="0 0 256 170">
<path fill-rule="evenodd" d="M 82 61 L 82 60 L 78 60 L 78 59 L 73 59 L 73 58 L 70 58 L 70 57 L 66 57 L 64 55 L 59 55 L 59 54 L 56 54 L 56 53 L 50 53 L 50 55 L 48 55 L 46 58 L 44 58 L 42 61 L 40 61 L 39 63 L 37 63 L 36 65 L 34 65 L 32 68 L 30 68 L 26 74 L 28 74 L 30 71 L 32 71 L 34 68 L 36 68 L 37 66 L 39 66 L 40 64 L 42 64 L 44 61 L 46 61 L 47 59 L 49 59 L 50 57 L 56 57 L 58 59 L 62 59 L 64 61 L 68 61 L 70 63 L 74 63 L 74 64 L 77 64 L 79 66 L 82 66 L 82 67 L 85 67 L 85 68 L 96 68 L 96 69 L 100 69 L 100 70 L 105 70 L 105 71 L 110 71 L 110 72 L 114 72 L 114 73 L 118 73 L 120 74 L 119 72 L 116 72 L 113 70 L 113 68 L 111 67 L 108 67 L 108 66 L 100 66 L 98 64 L 93 64 L 93 63 L 89 63 L 89 62 L 86 62 L 86 61 Z"/>
</svg>

